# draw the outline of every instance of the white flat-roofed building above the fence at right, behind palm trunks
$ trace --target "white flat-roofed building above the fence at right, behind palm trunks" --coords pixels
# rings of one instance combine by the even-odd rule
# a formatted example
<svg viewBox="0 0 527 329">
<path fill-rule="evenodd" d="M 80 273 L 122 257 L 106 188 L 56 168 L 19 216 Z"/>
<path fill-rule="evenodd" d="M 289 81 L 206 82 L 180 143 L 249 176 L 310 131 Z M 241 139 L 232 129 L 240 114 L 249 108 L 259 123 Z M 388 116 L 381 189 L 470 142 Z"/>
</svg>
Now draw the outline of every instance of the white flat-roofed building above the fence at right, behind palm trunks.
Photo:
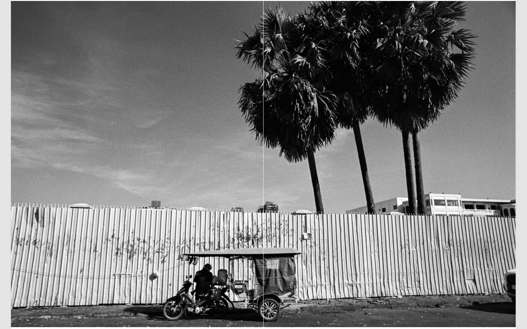
<svg viewBox="0 0 527 329">
<path fill-rule="evenodd" d="M 425 194 L 426 214 L 463 216 L 516 216 L 516 200 L 471 199 L 461 194 Z M 375 203 L 377 213 L 408 212 L 408 198 L 394 197 Z M 346 213 L 366 213 L 367 206 L 346 211 Z"/>
</svg>

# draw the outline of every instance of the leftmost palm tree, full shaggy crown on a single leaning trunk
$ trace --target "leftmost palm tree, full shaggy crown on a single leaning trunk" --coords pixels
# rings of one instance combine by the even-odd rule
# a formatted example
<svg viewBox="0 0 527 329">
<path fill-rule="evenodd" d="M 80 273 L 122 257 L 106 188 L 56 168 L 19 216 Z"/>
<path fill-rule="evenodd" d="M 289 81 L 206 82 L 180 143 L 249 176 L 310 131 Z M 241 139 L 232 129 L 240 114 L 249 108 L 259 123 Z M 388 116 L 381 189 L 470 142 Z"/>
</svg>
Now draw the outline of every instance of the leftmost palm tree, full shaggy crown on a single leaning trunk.
<svg viewBox="0 0 527 329">
<path fill-rule="evenodd" d="M 280 147 L 289 162 L 308 159 L 316 210 L 324 213 L 314 154 L 334 138 L 338 99 L 325 87 L 321 49 L 281 8 L 268 9 L 246 36 L 237 56 L 262 76 L 240 87 L 241 112 L 260 144 Z"/>
</svg>

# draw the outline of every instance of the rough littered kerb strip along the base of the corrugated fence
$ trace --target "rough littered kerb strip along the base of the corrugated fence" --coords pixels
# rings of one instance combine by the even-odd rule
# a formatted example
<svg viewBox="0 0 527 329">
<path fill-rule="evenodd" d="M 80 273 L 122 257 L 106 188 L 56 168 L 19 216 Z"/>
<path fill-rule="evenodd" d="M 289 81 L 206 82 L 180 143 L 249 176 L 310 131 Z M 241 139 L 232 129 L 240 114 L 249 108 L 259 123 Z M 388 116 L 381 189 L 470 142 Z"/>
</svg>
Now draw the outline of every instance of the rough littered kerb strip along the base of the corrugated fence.
<svg viewBox="0 0 527 329">
<path fill-rule="evenodd" d="M 405 296 L 379 298 L 343 298 L 336 300 L 301 301 L 284 308 L 284 314 L 299 312 L 354 312 L 382 308 L 406 307 L 464 307 L 491 303 L 510 303 L 503 295 L 454 295 L 454 296 Z M 243 303 L 235 302 L 236 308 Z M 13 308 L 11 321 L 102 318 L 102 317 L 151 317 L 161 314 L 161 305 L 97 305 L 71 307 Z M 162 316 L 162 315 L 161 315 Z"/>
</svg>

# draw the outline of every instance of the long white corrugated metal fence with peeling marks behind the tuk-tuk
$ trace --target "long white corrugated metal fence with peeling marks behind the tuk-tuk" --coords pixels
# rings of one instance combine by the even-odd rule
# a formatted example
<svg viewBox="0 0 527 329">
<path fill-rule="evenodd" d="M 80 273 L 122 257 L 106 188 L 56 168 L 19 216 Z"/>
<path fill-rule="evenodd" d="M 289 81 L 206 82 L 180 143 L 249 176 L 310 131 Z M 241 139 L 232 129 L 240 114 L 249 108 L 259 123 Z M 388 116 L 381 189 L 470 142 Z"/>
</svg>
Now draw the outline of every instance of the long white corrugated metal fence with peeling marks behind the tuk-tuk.
<svg viewBox="0 0 527 329">
<path fill-rule="evenodd" d="M 162 303 L 189 251 L 294 247 L 298 297 L 502 292 L 515 218 L 12 206 L 12 307 Z M 305 240 L 302 233 L 311 233 Z M 158 274 L 158 278 L 152 276 Z M 235 277 L 252 281 L 248 261 Z M 232 297 L 232 296 L 231 296 Z"/>
</svg>

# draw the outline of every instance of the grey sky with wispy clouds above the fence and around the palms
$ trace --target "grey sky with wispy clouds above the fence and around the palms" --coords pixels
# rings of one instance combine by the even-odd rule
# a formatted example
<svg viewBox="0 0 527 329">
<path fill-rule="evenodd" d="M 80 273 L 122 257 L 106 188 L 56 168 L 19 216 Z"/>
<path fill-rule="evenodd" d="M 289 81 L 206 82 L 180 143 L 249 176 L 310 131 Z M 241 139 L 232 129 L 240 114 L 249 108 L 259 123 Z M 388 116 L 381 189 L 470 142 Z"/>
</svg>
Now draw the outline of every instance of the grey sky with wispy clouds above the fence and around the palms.
<svg viewBox="0 0 527 329">
<path fill-rule="evenodd" d="M 291 14 L 307 2 L 281 2 Z M 275 2 L 265 2 L 265 8 Z M 11 202 L 315 211 L 307 161 L 249 132 L 234 48 L 262 2 L 12 2 Z M 425 193 L 515 198 L 515 3 L 467 2 L 455 103 L 419 134 Z M 376 202 L 406 196 L 401 133 L 361 127 Z M 352 131 L 315 154 L 326 212 L 364 206 Z"/>
</svg>

